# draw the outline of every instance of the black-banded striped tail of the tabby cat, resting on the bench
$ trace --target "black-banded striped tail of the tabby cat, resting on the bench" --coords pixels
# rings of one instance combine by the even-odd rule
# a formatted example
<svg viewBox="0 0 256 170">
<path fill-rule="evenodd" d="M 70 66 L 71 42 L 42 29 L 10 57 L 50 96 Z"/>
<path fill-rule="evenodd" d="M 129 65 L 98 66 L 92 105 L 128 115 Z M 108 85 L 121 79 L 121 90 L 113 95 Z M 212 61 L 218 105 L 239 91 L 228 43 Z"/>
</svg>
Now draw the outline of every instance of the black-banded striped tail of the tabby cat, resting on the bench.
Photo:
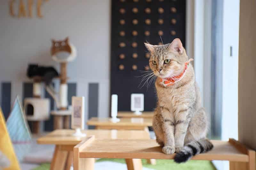
<svg viewBox="0 0 256 170">
<path fill-rule="evenodd" d="M 208 139 L 200 139 L 198 141 L 189 142 L 184 148 L 175 155 L 174 161 L 176 163 L 182 163 L 189 160 L 192 156 L 199 153 L 205 153 L 213 148 L 212 143 Z"/>
</svg>

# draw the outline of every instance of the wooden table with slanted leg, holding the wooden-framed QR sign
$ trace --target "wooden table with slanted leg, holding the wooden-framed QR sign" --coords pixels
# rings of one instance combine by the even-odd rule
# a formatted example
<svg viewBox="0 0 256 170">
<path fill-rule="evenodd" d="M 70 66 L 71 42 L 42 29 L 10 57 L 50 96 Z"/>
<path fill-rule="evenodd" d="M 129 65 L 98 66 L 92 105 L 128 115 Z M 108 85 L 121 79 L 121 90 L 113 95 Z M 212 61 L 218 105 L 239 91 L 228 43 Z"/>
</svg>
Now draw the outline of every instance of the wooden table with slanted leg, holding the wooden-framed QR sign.
<svg viewBox="0 0 256 170">
<path fill-rule="evenodd" d="M 74 137 L 75 130 L 58 129 L 37 139 L 38 144 L 54 144 L 51 170 L 69 170 L 72 165 L 73 148 L 86 137 Z M 94 135 L 99 139 L 148 139 L 144 130 L 82 130 L 87 137 Z M 151 160 L 154 163 L 154 160 Z"/>
</svg>

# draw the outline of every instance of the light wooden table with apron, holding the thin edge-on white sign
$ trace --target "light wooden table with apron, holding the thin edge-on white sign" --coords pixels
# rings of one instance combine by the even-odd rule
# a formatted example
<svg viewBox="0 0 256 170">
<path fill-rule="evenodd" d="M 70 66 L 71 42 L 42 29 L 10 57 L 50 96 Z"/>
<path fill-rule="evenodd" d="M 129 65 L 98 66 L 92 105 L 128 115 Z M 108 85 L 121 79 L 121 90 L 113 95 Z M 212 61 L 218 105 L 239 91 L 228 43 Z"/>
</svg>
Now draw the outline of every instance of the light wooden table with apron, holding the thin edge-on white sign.
<svg viewBox="0 0 256 170">
<path fill-rule="evenodd" d="M 140 122 L 143 120 L 143 122 Z M 120 118 L 120 122 L 112 122 L 111 118 L 92 117 L 87 125 L 95 126 L 95 129 L 125 129 L 125 130 L 145 130 L 152 126 L 152 119 L 148 118 Z"/>
</svg>

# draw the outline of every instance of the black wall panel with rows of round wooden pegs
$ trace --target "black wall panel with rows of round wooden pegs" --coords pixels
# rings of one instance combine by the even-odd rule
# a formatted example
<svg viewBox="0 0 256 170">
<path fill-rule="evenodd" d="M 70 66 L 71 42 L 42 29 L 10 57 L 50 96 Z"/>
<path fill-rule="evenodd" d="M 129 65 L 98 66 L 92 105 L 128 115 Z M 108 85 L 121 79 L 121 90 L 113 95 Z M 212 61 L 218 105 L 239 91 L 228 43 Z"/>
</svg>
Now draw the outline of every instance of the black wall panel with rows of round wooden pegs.
<svg viewBox="0 0 256 170">
<path fill-rule="evenodd" d="M 131 93 L 144 93 L 145 110 L 156 107 L 153 83 L 139 88 L 137 78 L 148 66 L 144 42 L 185 45 L 185 0 L 112 0 L 111 94 L 118 94 L 118 110 L 129 111 Z M 134 69 L 134 70 L 133 70 Z"/>
</svg>

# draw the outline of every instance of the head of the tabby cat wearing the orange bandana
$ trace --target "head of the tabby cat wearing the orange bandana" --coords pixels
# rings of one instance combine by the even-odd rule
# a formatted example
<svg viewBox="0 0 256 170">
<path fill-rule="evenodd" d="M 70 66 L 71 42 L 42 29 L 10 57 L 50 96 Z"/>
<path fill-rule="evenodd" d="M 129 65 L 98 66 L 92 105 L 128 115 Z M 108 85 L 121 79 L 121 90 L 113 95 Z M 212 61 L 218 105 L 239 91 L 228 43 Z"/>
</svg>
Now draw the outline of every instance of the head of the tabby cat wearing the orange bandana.
<svg viewBox="0 0 256 170">
<path fill-rule="evenodd" d="M 145 43 L 145 46 L 150 52 L 149 66 L 158 77 L 168 78 L 179 75 L 184 69 L 185 62 L 188 61 L 188 55 L 178 38 L 170 44 Z"/>
</svg>

